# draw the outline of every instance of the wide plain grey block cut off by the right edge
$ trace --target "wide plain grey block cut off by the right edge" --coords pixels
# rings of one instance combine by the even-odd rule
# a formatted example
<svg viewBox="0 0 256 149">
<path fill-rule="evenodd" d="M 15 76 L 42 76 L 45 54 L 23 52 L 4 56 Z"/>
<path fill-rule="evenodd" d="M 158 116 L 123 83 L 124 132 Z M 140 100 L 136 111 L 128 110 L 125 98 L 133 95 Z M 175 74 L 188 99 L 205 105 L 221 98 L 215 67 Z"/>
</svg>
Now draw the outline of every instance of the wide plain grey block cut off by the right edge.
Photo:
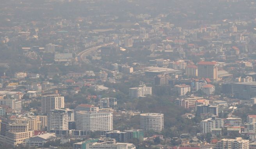
<svg viewBox="0 0 256 149">
<path fill-rule="evenodd" d="M 250 100 L 256 97 L 256 82 L 233 83 L 232 90 L 235 98 Z"/>
</svg>

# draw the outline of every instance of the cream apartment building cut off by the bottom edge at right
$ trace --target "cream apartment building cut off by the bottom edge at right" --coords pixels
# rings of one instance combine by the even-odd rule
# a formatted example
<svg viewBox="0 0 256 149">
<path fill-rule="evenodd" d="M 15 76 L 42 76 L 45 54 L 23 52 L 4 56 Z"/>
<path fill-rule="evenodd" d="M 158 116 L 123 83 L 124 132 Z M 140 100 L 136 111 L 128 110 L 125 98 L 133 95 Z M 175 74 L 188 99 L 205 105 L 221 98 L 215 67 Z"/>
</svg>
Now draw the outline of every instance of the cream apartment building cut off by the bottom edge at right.
<svg viewBox="0 0 256 149">
<path fill-rule="evenodd" d="M 242 138 L 224 138 L 218 141 L 215 149 L 249 149 L 249 140 L 243 140 Z"/>
</svg>

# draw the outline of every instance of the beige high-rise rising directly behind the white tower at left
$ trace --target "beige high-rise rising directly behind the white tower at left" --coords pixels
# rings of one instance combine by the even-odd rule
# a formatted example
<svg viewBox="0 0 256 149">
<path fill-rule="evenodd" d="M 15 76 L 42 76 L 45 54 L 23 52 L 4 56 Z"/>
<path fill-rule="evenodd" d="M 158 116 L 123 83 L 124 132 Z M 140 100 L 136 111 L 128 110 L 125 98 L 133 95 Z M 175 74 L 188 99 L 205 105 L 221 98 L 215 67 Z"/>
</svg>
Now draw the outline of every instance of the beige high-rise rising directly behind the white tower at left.
<svg viewBox="0 0 256 149">
<path fill-rule="evenodd" d="M 64 96 L 59 94 L 45 95 L 41 97 L 42 112 L 48 113 L 50 110 L 64 108 Z"/>
</svg>

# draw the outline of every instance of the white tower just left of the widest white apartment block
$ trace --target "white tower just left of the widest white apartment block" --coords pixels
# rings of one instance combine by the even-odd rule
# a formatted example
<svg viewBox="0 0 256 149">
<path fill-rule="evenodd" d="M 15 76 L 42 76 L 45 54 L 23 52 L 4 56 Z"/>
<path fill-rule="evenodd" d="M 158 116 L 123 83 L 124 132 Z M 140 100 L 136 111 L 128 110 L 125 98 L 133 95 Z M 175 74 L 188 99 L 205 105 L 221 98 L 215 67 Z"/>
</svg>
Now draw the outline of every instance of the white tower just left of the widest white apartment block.
<svg viewBox="0 0 256 149">
<path fill-rule="evenodd" d="M 61 129 L 68 130 L 69 114 L 67 110 L 54 109 L 48 113 L 48 130 Z"/>
</svg>

